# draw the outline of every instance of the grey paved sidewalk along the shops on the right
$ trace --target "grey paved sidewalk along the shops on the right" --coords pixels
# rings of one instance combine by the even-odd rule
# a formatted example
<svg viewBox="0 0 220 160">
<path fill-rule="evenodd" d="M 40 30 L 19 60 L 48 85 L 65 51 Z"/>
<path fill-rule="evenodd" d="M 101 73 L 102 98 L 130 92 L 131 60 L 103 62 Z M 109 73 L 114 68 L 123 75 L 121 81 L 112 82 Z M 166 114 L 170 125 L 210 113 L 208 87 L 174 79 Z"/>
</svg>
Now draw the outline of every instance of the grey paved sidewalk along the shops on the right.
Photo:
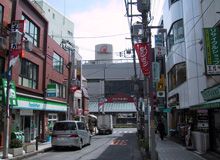
<svg viewBox="0 0 220 160">
<path fill-rule="evenodd" d="M 158 135 L 155 137 L 158 160 L 207 160 L 168 138 L 162 141 Z"/>
</svg>

